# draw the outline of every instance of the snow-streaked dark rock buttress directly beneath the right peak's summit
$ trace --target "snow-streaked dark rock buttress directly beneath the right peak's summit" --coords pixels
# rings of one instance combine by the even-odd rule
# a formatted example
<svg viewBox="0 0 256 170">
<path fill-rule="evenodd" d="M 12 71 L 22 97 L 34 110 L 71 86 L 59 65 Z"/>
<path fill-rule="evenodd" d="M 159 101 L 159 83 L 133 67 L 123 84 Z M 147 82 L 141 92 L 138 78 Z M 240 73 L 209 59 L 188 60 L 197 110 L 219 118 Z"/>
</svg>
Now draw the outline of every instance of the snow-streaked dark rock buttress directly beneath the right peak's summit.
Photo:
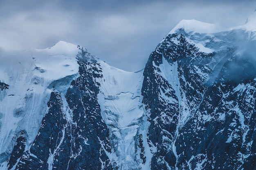
<svg viewBox="0 0 256 170">
<path fill-rule="evenodd" d="M 175 139 L 202 102 L 203 85 L 216 63 L 214 55 L 200 52 L 177 33 L 165 37 L 151 53 L 141 92 L 150 109 L 148 136 L 157 147 L 152 169 L 175 168 Z"/>
</svg>

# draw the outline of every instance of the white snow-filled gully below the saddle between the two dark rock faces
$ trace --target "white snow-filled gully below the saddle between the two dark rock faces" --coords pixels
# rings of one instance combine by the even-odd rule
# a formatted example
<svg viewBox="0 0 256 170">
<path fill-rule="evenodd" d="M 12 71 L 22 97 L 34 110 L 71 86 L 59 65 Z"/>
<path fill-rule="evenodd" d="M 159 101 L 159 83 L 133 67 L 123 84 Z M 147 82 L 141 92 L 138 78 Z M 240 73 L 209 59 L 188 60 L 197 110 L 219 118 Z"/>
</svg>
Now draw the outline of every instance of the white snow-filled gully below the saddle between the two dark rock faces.
<svg viewBox="0 0 256 170">
<path fill-rule="evenodd" d="M 109 157 L 117 168 L 122 165 L 122 169 L 136 169 L 142 161 L 137 153 L 135 137 L 140 131 L 146 132 L 143 120 L 145 109 L 141 104 L 143 72 L 125 72 L 104 62 L 100 64 L 103 78 L 99 80 L 98 99 L 101 115 L 110 129 L 112 153 Z"/>
</svg>

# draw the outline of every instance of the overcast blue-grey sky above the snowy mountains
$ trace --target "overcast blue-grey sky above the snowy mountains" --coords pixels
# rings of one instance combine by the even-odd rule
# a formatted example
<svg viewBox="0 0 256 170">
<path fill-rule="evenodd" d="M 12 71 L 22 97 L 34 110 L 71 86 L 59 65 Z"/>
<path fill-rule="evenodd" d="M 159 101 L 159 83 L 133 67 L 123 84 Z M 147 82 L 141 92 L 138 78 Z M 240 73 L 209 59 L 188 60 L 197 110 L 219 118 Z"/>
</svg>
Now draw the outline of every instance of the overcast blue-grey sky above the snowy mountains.
<svg viewBox="0 0 256 170">
<path fill-rule="evenodd" d="M 255 0 L 0 0 L 0 54 L 67 41 L 137 71 L 180 20 L 229 28 L 255 9 Z"/>
</svg>

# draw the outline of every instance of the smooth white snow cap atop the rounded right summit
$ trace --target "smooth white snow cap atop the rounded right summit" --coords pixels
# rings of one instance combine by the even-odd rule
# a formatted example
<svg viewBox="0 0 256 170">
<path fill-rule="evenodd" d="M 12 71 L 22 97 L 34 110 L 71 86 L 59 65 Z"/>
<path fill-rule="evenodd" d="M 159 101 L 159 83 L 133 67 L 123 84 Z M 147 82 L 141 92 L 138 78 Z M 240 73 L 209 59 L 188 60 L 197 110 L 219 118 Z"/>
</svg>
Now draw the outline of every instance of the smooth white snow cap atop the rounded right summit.
<svg viewBox="0 0 256 170">
<path fill-rule="evenodd" d="M 219 29 L 214 24 L 197 20 L 181 20 L 169 34 L 177 33 L 179 30 L 183 30 L 185 33 L 216 33 Z"/>
</svg>

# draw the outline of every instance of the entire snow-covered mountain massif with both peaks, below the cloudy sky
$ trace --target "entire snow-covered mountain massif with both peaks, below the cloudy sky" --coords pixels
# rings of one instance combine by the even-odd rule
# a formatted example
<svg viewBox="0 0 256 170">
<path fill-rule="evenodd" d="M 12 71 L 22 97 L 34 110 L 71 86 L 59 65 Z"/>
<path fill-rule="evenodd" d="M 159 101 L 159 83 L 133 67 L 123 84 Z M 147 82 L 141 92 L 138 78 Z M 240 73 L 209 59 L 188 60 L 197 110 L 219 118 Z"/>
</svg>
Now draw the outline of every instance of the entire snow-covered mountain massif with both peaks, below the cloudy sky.
<svg viewBox="0 0 256 170">
<path fill-rule="evenodd" d="M 15 169 L 256 169 L 256 12 L 182 20 L 125 72 L 63 41 L 0 57 L 0 163 Z"/>
</svg>

